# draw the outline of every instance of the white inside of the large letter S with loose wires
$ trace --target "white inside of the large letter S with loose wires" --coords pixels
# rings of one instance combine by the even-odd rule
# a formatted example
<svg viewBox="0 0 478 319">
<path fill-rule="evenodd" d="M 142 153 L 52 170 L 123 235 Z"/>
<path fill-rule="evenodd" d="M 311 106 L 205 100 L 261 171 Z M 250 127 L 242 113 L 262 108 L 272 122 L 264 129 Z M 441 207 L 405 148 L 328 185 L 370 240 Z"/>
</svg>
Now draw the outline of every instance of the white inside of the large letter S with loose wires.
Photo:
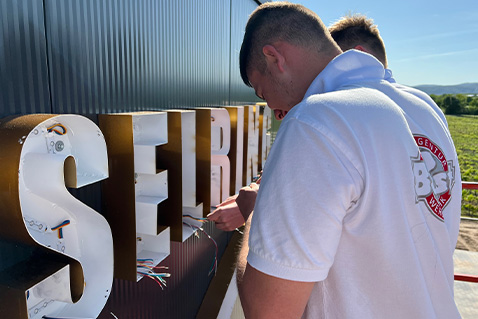
<svg viewBox="0 0 478 319">
<path fill-rule="evenodd" d="M 83 116 L 52 117 L 24 140 L 19 192 L 25 226 L 38 244 L 79 261 L 87 283 L 73 304 L 64 294 L 69 290 L 68 271 L 60 270 L 33 287 L 27 300 L 32 314 L 96 317 L 103 309 L 113 281 L 111 230 L 103 216 L 67 191 L 65 180 L 69 187 L 81 187 L 107 176 L 104 137 Z M 51 289 L 59 291 L 50 294 Z M 39 309 L 38 304 L 44 307 Z"/>
</svg>

